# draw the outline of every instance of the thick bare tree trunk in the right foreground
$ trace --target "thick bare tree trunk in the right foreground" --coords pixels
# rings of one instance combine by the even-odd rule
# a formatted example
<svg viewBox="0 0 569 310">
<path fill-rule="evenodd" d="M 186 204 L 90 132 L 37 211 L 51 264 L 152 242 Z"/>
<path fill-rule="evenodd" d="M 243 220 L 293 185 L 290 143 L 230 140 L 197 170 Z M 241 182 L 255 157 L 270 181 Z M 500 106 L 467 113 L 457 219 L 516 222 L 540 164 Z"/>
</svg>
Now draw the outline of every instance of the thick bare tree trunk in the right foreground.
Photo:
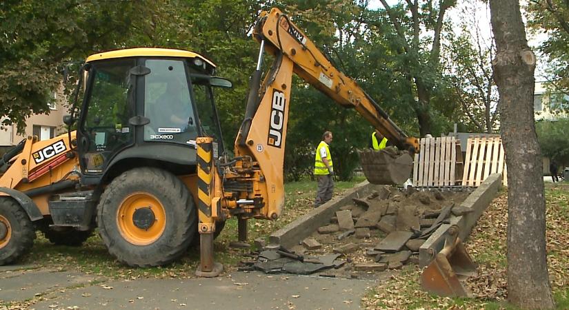
<svg viewBox="0 0 569 310">
<path fill-rule="evenodd" d="M 517 0 L 490 0 L 501 135 L 508 163 L 508 300 L 555 307 L 546 258 L 546 203 L 533 114 L 535 54 Z"/>
</svg>

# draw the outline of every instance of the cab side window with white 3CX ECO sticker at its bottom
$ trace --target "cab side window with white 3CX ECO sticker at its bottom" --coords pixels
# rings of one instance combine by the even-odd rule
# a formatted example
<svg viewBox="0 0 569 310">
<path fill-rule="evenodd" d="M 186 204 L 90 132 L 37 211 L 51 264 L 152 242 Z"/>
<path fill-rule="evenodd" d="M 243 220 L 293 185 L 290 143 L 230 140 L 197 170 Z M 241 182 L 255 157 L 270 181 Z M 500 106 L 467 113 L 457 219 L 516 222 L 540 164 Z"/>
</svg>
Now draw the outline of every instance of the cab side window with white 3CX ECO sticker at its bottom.
<svg viewBox="0 0 569 310">
<path fill-rule="evenodd" d="M 144 76 L 145 141 L 195 145 L 197 124 L 183 61 L 148 59 Z"/>
</svg>

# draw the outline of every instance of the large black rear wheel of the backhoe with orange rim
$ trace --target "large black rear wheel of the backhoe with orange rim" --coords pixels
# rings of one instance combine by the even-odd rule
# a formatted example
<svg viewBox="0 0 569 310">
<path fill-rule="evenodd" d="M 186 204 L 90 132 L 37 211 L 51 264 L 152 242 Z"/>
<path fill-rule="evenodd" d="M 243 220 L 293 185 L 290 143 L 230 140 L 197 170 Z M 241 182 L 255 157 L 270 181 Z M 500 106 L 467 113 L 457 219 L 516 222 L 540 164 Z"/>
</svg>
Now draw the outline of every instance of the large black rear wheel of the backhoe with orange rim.
<svg viewBox="0 0 569 310">
<path fill-rule="evenodd" d="M 134 223 L 134 213 L 125 215 L 133 209 L 152 210 L 156 218 L 148 222 L 150 227 L 141 229 Z M 179 258 L 190 245 L 197 233 L 196 212 L 192 195 L 179 178 L 141 167 L 123 172 L 108 185 L 97 206 L 97 225 L 109 253 L 120 262 L 161 266 Z"/>
</svg>

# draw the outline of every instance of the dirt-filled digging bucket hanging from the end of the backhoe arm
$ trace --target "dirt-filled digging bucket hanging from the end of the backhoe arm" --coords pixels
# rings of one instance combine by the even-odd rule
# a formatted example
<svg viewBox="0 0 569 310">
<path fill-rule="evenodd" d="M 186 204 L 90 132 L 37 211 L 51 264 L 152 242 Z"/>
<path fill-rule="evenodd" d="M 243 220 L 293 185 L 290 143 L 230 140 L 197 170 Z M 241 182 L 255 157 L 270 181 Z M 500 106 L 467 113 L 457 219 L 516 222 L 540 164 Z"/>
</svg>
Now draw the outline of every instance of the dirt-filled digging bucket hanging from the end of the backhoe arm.
<svg viewBox="0 0 569 310">
<path fill-rule="evenodd" d="M 386 147 L 359 152 L 363 174 L 372 184 L 401 185 L 411 176 L 413 158 L 407 151 Z"/>
</svg>

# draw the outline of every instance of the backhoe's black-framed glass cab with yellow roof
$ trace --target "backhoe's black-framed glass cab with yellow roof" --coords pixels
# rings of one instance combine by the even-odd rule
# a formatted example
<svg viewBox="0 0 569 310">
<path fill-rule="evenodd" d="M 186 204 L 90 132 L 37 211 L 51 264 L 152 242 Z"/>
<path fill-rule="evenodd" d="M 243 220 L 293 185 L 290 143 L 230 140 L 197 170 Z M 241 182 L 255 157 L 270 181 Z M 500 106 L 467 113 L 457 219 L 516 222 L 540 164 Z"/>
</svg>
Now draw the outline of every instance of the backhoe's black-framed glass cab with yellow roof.
<svg viewBox="0 0 569 310">
<path fill-rule="evenodd" d="M 77 149 L 87 184 L 135 165 L 194 173 L 196 138 L 210 136 L 214 153 L 223 139 L 213 87 L 231 82 L 213 76 L 215 65 L 199 54 L 133 48 L 89 56 Z"/>
</svg>

